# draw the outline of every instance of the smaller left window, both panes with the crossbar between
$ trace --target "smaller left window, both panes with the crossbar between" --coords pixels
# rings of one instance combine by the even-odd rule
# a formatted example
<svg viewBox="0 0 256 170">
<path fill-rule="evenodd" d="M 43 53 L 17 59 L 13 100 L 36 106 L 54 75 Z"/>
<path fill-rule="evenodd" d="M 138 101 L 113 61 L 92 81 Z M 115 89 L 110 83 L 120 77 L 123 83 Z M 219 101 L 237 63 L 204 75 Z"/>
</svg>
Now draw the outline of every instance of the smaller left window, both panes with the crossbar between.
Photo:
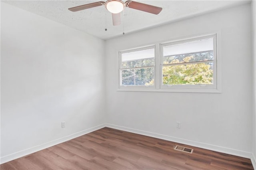
<svg viewBox="0 0 256 170">
<path fill-rule="evenodd" d="M 154 87 L 155 47 L 121 51 L 120 88 Z"/>
</svg>

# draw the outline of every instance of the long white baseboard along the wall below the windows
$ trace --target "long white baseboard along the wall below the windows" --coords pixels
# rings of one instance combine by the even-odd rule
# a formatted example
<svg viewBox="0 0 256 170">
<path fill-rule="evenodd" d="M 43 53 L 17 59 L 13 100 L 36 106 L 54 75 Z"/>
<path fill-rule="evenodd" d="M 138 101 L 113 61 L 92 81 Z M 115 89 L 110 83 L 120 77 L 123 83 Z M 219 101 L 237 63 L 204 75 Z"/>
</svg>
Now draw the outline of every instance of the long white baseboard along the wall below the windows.
<svg viewBox="0 0 256 170">
<path fill-rule="evenodd" d="M 214 151 L 217 151 L 217 152 L 222 152 L 222 153 L 226 153 L 226 154 L 232 154 L 232 155 L 252 159 L 252 153 L 245 152 L 245 151 L 242 151 L 242 150 L 235 150 L 235 149 L 232 149 L 232 148 L 225 148 L 225 147 L 222 147 L 222 146 L 216 146 L 216 145 L 212 145 L 212 144 L 206 144 L 206 143 L 202 143 L 202 142 L 196 142 L 196 141 L 192 141 L 192 140 L 176 138 L 176 137 L 173 137 L 173 136 L 167 136 L 167 135 L 163 135 L 163 134 L 157 134 L 157 133 L 147 132 L 147 131 L 143 131 L 143 130 L 128 128 L 128 127 L 122 127 L 122 126 L 118 126 L 118 125 L 106 124 L 106 127 L 115 128 L 115 129 L 118 129 L 118 130 L 124 130 L 124 131 L 127 131 L 127 132 L 142 134 L 142 135 L 145 135 L 145 136 L 160 138 L 160 139 L 164 139 L 164 140 L 168 140 L 168 141 L 172 141 L 172 142 L 177 142 L 177 143 L 181 143 L 181 144 L 195 146 L 195 147 L 198 147 L 198 148 L 214 150 Z M 255 160 L 255 158 L 254 158 L 254 160 Z"/>
</svg>

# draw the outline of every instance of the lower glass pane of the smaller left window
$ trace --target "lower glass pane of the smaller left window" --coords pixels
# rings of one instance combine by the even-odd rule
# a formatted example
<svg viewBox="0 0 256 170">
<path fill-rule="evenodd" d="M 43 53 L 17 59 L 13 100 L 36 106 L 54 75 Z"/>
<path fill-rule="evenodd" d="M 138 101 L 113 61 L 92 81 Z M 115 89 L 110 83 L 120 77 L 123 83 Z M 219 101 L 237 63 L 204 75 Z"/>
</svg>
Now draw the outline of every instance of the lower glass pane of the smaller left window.
<svg viewBox="0 0 256 170">
<path fill-rule="evenodd" d="M 122 85 L 154 85 L 154 68 L 121 71 Z"/>
</svg>

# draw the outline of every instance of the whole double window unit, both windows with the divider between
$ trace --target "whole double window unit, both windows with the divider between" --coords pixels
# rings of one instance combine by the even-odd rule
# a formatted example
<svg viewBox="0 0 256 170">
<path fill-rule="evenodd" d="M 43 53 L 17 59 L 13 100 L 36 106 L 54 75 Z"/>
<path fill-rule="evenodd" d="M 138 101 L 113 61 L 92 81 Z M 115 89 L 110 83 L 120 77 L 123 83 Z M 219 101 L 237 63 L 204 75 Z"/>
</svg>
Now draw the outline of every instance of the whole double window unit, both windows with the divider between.
<svg viewBox="0 0 256 170">
<path fill-rule="evenodd" d="M 120 51 L 119 89 L 218 93 L 216 48 L 210 34 Z"/>
</svg>

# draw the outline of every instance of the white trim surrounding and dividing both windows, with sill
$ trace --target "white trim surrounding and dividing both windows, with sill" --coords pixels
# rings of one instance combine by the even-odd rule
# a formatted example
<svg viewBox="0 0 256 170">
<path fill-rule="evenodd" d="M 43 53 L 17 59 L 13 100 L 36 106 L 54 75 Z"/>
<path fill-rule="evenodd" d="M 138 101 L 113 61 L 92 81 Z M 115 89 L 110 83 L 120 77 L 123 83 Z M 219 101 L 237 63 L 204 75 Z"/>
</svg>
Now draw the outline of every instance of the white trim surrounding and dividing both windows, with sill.
<svg viewBox="0 0 256 170">
<path fill-rule="evenodd" d="M 179 88 L 179 86 L 184 86 L 184 85 L 162 85 L 162 45 L 168 44 L 168 43 L 177 43 L 177 42 L 182 42 L 182 41 L 189 41 L 189 40 L 196 40 L 196 39 L 202 39 L 202 38 L 207 38 L 208 36 L 214 36 L 214 87 L 211 87 L 211 85 L 196 85 L 198 86 L 197 88 Z M 154 66 L 154 86 L 120 86 L 120 55 L 122 52 L 132 52 L 136 51 L 138 49 L 143 49 L 144 47 L 155 47 L 155 66 Z M 118 71 L 118 81 L 119 81 L 119 87 L 117 91 L 141 91 L 141 92 L 178 92 L 178 93 L 221 93 L 221 32 L 216 31 L 215 33 L 209 33 L 209 34 L 204 34 L 200 36 L 189 36 L 189 37 L 184 37 L 184 38 L 176 38 L 176 40 L 170 40 L 166 41 L 164 43 L 162 42 L 157 42 L 155 45 L 148 45 L 140 48 L 135 48 L 135 49 L 130 49 L 130 50 L 124 50 L 119 52 L 119 71 Z M 188 86 L 187 86 L 188 87 Z M 193 85 L 193 87 L 195 87 Z"/>
</svg>

